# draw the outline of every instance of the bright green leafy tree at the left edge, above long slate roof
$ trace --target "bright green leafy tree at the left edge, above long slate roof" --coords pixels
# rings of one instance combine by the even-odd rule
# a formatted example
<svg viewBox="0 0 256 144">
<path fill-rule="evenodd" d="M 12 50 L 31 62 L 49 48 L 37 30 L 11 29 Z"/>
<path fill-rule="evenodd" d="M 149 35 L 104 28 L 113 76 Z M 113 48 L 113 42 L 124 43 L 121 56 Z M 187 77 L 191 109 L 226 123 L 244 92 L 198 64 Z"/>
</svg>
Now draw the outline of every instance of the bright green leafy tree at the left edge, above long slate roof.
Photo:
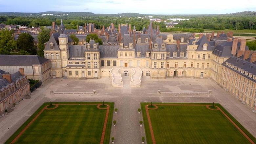
<svg viewBox="0 0 256 144">
<path fill-rule="evenodd" d="M 11 54 L 16 49 L 17 44 L 12 31 L 8 31 L 7 29 L 0 30 L 0 54 Z"/>
</svg>

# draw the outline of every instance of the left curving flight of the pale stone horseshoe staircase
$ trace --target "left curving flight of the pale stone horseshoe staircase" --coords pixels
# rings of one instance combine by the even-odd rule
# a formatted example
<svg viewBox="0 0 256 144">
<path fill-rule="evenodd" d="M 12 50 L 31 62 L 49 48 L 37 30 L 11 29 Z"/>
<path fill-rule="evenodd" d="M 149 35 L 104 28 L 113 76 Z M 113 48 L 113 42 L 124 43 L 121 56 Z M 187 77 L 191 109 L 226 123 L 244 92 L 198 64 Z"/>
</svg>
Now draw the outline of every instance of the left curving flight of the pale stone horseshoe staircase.
<svg viewBox="0 0 256 144">
<path fill-rule="evenodd" d="M 123 87 L 122 76 L 118 72 L 120 68 L 113 68 L 110 71 L 111 79 L 112 79 L 112 86 L 113 87 Z"/>
</svg>

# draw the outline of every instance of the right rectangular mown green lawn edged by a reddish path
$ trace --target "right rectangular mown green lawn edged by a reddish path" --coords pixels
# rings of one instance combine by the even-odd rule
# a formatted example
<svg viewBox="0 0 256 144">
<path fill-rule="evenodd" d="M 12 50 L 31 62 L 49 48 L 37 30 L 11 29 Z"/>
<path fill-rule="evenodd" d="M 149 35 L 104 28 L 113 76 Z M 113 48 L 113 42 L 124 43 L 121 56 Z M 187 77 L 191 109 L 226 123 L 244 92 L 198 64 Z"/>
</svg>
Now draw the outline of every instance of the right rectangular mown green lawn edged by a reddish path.
<svg viewBox="0 0 256 144">
<path fill-rule="evenodd" d="M 210 110 L 206 105 L 211 104 L 158 103 L 156 109 L 148 109 L 149 115 L 146 113 L 146 105 L 150 104 L 141 103 L 148 144 L 250 143 L 243 132 L 254 143 L 256 142 L 256 139 L 219 104 L 215 106 L 217 105 L 220 110 Z"/>
</svg>

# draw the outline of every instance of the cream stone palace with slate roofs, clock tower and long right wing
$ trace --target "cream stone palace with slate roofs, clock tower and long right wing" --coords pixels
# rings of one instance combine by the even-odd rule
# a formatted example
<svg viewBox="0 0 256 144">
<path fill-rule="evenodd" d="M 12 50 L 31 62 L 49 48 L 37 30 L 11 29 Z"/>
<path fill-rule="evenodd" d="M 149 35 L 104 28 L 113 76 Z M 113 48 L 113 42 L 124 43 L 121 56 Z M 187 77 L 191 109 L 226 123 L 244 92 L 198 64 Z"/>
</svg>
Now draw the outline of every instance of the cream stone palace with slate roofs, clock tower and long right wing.
<svg viewBox="0 0 256 144">
<path fill-rule="evenodd" d="M 131 78 L 131 87 L 140 86 L 141 78 L 211 78 L 255 110 L 256 53 L 233 32 L 201 33 L 196 39 L 195 34 L 160 33 L 152 22 L 142 31 L 128 24 L 119 24 L 118 31 L 114 24 L 100 30 L 88 24 L 75 31 L 79 44 L 74 45 L 63 22 L 58 31 L 44 49 L 53 78 L 111 77 L 115 87 L 123 86 L 122 76 Z M 90 33 L 103 45 L 86 42 Z"/>
</svg>

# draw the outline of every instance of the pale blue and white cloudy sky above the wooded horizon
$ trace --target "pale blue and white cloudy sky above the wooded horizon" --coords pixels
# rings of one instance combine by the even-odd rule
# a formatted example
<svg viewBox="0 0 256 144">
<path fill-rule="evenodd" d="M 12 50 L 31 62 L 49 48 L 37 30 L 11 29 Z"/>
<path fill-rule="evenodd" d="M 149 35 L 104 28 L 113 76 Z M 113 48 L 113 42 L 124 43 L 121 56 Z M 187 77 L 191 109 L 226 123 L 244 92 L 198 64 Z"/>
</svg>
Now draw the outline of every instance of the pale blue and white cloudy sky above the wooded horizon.
<svg viewBox="0 0 256 144">
<path fill-rule="evenodd" d="M 0 0 L 1 12 L 225 14 L 256 11 L 256 0 Z"/>
</svg>

